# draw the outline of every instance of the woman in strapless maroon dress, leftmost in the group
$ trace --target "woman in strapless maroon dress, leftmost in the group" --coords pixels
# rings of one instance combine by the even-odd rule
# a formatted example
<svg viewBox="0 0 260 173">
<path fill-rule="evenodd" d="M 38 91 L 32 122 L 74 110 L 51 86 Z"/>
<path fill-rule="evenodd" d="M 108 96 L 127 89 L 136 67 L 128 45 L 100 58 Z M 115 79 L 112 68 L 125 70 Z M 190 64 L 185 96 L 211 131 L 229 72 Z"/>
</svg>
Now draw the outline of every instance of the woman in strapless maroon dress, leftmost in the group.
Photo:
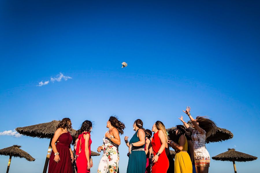
<svg viewBox="0 0 260 173">
<path fill-rule="evenodd" d="M 70 148 L 72 136 L 68 129 L 72 129 L 71 121 L 69 118 L 64 118 L 58 124 L 51 141 L 52 151 L 49 161 L 49 173 L 72 173 L 71 163 L 74 158 Z"/>
</svg>

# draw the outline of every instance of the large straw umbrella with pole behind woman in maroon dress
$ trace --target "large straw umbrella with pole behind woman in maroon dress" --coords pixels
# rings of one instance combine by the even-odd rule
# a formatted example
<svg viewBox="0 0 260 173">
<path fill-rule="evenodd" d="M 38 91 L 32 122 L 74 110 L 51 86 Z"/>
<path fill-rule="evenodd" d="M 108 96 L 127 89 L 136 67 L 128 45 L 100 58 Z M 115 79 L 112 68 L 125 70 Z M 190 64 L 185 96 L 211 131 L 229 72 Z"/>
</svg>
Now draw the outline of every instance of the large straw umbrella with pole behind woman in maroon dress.
<svg viewBox="0 0 260 173">
<path fill-rule="evenodd" d="M 49 158 L 51 155 L 51 140 L 52 137 L 57 129 L 57 125 L 60 123 L 60 121 L 53 120 L 49 123 L 41 123 L 36 125 L 30 125 L 26 127 L 17 127 L 15 130 L 25 136 L 31 136 L 33 138 L 47 138 L 50 139 L 50 144 L 44 164 L 43 173 L 47 172 L 47 167 L 49 164 Z M 70 131 L 70 130 L 68 130 Z M 72 129 L 70 131 L 71 135 L 74 136 L 76 133 L 76 130 Z"/>
</svg>

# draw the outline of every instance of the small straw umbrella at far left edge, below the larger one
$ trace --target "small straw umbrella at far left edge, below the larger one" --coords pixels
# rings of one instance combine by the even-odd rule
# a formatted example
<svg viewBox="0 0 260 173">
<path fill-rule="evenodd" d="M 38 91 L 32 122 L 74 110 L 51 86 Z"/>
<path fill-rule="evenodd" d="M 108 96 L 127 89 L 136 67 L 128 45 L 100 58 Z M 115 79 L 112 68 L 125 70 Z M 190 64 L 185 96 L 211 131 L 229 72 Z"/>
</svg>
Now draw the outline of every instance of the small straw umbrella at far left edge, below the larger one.
<svg viewBox="0 0 260 173">
<path fill-rule="evenodd" d="M 13 157 L 25 158 L 28 161 L 35 161 L 35 159 L 33 157 L 31 157 L 31 155 L 29 155 L 28 153 L 26 153 L 25 151 L 23 151 L 20 148 L 21 148 L 21 146 L 19 146 L 19 145 L 13 145 L 13 146 L 3 148 L 3 149 L 0 150 L 0 155 L 10 156 L 6 173 L 9 172 L 12 156 Z"/>
</svg>

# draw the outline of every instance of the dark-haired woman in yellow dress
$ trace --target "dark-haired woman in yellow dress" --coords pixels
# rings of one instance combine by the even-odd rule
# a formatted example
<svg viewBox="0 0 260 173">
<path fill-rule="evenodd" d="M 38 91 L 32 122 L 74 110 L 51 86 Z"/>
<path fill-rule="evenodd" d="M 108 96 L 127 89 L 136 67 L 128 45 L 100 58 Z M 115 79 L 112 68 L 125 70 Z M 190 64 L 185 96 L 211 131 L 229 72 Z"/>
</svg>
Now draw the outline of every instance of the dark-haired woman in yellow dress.
<svg viewBox="0 0 260 173">
<path fill-rule="evenodd" d="M 174 159 L 175 173 L 192 173 L 192 162 L 187 153 L 188 142 L 185 137 L 185 127 L 183 125 L 176 126 L 177 143 L 168 140 L 168 144 L 175 149 L 176 155 Z"/>
</svg>

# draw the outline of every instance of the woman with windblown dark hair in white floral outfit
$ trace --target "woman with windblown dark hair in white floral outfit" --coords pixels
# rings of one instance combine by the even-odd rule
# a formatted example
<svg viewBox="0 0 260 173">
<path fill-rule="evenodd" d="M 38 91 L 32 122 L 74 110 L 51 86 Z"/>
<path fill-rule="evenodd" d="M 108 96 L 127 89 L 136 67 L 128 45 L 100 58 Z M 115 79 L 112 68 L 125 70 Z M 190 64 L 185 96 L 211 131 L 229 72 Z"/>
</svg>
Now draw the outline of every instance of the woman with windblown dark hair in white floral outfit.
<svg viewBox="0 0 260 173">
<path fill-rule="evenodd" d="M 124 133 L 125 124 L 117 119 L 115 116 L 110 116 L 107 121 L 107 128 L 109 129 L 103 138 L 103 145 L 97 148 L 98 152 L 103 150 L 104 154 L 99 162 L 98 173 L 114 173 L 118 172 L 120 145 L 119 133 Z"/>
</svg>

